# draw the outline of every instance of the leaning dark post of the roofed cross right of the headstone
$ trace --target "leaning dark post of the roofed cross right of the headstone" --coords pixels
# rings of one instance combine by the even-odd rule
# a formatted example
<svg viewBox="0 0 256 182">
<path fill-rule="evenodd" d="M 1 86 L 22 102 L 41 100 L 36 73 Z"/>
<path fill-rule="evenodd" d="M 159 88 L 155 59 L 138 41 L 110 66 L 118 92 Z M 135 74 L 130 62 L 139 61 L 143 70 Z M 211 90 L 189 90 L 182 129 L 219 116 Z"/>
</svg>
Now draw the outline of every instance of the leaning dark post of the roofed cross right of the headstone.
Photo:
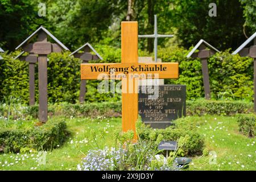
<svg viewBox="0 0 256 182">
<path fill-rule="evenodd" d="M 207 58 L 201 59 L 202 61 L 202 72 L 203 72 L 203 82 L 204 82 L 204 96 L 205 99 L 210 100 L 210 82 L 209 82 L 209 71 Z"/>
</svg>

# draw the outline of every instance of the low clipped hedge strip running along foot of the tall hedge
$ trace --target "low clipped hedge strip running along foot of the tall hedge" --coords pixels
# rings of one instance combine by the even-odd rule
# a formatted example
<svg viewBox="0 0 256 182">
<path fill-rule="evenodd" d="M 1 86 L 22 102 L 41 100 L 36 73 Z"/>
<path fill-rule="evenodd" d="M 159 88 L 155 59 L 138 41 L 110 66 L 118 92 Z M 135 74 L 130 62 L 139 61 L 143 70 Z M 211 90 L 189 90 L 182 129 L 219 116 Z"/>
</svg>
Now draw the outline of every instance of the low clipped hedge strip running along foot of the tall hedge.
<svg viewBox="0 0 256 182">
<path fill-rule="evenodd" d="M 204 99 L 187 101 L 187 115 L 236 115 L 253 113 L 253 103 L 246 101 L 207 101 Z M 85 102 L 84 104 L 59 103 L 48 106 L 49 116 L 64 115 L 65 117 L 120 117 L 121 101 L 116 102 Z M 10 119 L 38 118 L 38 105 L 23 106 L 20 104 L 0 104 L 1 117 Z"/>
</svg>

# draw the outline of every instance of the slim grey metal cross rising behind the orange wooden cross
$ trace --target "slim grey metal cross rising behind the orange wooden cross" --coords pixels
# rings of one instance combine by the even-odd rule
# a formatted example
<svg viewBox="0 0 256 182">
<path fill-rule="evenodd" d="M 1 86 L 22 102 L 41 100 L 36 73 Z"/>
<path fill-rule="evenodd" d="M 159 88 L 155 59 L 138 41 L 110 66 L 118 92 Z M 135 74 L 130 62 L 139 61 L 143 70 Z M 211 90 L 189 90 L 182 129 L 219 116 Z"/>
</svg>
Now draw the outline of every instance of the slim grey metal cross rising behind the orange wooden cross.
<svg viewBox="0 0 256 182">
<path fill-rule="evenodd" d="M 139 35 L 139 38 L 154 38 L 154 55 L 155 55 L 155 63 L 158 61 L 158 38 L 173 38 L 174 35 L 161 35 L 158 34 L 158 23 L 157 23 L 157 15 L 154 15 L 154 34 L 151 35 Z"/>
</svg>

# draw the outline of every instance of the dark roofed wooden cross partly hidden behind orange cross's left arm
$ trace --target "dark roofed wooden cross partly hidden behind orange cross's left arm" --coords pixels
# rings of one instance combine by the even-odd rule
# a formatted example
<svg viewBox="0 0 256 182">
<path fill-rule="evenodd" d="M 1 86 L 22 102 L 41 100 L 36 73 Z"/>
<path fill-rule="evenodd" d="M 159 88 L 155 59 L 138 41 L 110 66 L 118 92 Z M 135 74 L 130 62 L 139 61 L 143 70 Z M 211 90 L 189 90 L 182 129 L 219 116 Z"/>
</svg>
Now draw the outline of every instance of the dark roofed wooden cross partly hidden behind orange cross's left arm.
<svg viewBox="0 0 256 182">
<path fill-rule="evenodd" d="M 83 51 L 83 52 L 80 53 L 80 51 Z M 93 51 L 95 55 L 90 53 L 91 51 Z M 84 46 L 81 46 L 80 48 L 76 49 L 76 51 L 72 52 L 69 56 L 72 56 L 72 55 L 76 58 L 81 59 L 82 63 L 89 63 L 89 61 L 98 60 L 98 59 L 102 60 L 102 57 L 89 43 L 86 43 L 84 44 Z M 80 95 L 79 95 L 80 103 L 84 102 L 85 93 L 86 93 L 86 80 L 81 80 Z"/>
</svg>

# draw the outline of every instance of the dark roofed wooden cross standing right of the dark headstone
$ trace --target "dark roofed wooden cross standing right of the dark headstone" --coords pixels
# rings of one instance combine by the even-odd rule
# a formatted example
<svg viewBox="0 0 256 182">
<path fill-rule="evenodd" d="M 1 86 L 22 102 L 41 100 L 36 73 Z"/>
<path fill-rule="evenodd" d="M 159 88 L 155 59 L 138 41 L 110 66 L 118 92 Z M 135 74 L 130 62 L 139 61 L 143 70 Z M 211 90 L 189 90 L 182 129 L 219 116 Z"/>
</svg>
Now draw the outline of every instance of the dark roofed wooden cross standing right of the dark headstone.
<svg viewBox="0 0 256 182">
<path fill-rule="evenodd" d="M 210 49 L 207 49 L 207 47 Z M 197 49 L 199 49 L 199 52 L 195 52 Z M 201 59 L 204 82 L 204 96 L 207 100 L 210 100 L 210 81 L 207 59 L 211 55 L 214 55 L 216 52 L 220 51 L 207 43 L 205 40 L 201 39 L 192 49 L 192 51 L 187 55 L 187 57 L 199 57 Z"/>
</svg>

